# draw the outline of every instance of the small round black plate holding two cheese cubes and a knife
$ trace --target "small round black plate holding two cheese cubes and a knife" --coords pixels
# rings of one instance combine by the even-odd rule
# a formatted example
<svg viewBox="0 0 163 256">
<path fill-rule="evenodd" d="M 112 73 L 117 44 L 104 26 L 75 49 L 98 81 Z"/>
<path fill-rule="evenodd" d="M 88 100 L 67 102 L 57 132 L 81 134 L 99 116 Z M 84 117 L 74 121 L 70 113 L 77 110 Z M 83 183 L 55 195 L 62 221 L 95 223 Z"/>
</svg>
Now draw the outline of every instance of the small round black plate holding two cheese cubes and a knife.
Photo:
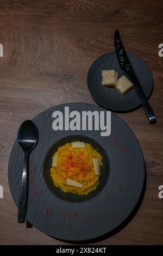
<svg viewBox="0 0 163 256">
<path fill-rule="evenodd" d="M 147 63 L 133 53 L 127 53 L 131 65 L 137 78 L 147 96 L 152 93 L 153 76 Z M 93 99 L 101 106 L 114 112 L 129 112 L 141 106 L 139 98 L 134 89 L 127 94 L 121 95 L 115 88 L 102 86 L 102 70 L 114 69 L 118 72 L 118 77 L 123 73 L 118 64 L 116 52 L 102 55 L 93 62 L 87 74 L 87 87 Z"/>
</svg>

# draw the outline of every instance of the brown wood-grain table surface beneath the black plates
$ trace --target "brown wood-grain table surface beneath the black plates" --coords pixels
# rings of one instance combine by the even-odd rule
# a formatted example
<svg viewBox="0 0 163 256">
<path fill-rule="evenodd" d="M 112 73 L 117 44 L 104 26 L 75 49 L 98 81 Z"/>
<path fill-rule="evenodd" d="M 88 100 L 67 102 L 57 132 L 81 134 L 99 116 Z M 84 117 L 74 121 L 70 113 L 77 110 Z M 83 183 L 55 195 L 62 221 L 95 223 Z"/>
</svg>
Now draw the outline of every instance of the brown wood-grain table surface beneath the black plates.
<svg viewBox="0 0 163 256">
<path fill-rule="evenodd" d="M 17 208 L 8 185 L 9 155 L 17 130 L 25 119 L 66 102 L 96 104 L 87 90 L 92 62 L 114 51 L 119 28 L 127 51 L 151 67 L 154 90 L 150 102 L 158 123 L 150 125 L 140 108 L 117 114 L 134 131 L 147 168 L 145 197 L 136 216 L 119 233 L 99 245 L 163 243 L 163 4 L 159 0 L 132 1 L 1 1 L 0 43 L 0 199 L 1 245 L 64 245 L 35 228 L 17 224 Z"/>
</svg>

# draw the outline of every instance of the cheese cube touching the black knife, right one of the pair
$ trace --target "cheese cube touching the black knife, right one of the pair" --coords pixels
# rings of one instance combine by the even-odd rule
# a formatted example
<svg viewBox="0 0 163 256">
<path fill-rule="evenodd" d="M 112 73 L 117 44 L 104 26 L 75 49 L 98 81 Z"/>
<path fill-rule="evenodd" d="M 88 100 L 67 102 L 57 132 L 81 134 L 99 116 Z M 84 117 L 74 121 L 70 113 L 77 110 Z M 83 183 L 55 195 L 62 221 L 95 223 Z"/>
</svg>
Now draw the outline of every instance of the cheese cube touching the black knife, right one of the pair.
<svg viewBox="0 0 163 256">
<path fill-rule="evenodd" d="M 126 76 L 122 76 L 118 79 L 116 90 L 121 95 L 124 95 L 133 88 L 133 84 L 127 79 Z"/>
</svg>

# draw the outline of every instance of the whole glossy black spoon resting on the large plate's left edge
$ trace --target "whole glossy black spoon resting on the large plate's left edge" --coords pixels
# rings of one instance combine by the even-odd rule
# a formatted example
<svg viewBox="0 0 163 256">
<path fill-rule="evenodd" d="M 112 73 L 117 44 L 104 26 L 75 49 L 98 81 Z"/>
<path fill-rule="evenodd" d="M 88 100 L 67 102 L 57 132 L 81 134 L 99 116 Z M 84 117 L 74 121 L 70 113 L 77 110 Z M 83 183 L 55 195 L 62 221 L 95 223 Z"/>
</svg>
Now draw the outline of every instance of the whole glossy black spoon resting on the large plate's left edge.
<svg viewBox="0 0 163 256">
<path fill-rule="evenodd" d="M 24 223 L 27 214 L 28 180 L 29 180 L 29 154 L 34 149 L 38 139 L 38 130 L 31 120 L 26 120 L 20 126 L 17 133 L 17 141 L 24 151 L 24 167 L 20 198 L 18 202 L 17 222 Z"/>
</svg>

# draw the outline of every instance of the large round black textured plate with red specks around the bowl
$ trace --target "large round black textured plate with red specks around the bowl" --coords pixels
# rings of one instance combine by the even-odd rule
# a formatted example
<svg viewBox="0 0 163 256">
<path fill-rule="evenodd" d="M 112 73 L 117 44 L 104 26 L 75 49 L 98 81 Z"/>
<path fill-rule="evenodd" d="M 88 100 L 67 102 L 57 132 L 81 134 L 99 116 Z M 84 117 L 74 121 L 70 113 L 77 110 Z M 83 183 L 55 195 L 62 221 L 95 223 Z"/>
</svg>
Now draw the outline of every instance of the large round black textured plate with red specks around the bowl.
<svg viewBox="0 0 163 256">
<path fill-rule="evenodd" d="M 134 210 L 145 179 L 145 163 L 139 143 L 124 121 L 111 113 L 111 135 L 102 137 L 101 131 L 54 131 L 54 111 L 104 111 L 99 106 L 70 103 L 55 106 L 37 115 L 33 121 L 39 130 L 39 142 L 30 154 L 29 201 L 27 220 L 49 236 L 68 241 L 94 239 L 114 230 Z M 67 136 L 93 139 L 108 155 L 109 178 L 95 197 L 85 202 L 62 200 L 52 193 L 43 177 L 43 163 L 47 153 L 60 139 Z M 23 169 L 23 152 L 15 142 L 9 160 L 9 185 L 18 205 Z M 102 169 L 103 175 L 103 169 Z"/>
</svg>

